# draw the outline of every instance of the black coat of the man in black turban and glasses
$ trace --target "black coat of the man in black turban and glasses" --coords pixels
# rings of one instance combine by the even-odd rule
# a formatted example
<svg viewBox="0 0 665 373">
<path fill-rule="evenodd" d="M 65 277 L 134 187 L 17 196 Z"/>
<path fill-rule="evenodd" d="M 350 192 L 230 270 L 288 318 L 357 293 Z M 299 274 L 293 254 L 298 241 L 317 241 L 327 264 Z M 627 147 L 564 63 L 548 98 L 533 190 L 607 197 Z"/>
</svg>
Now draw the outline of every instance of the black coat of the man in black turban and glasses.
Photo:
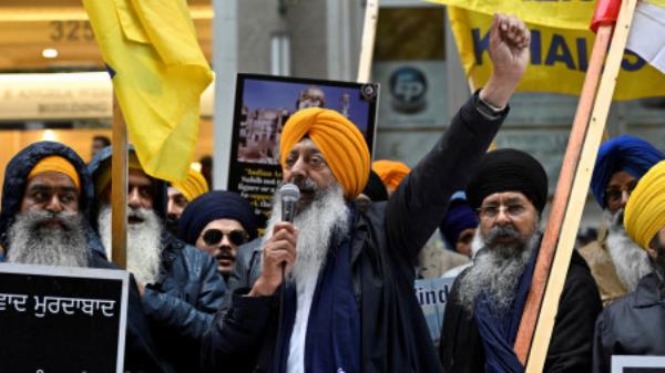
<svg viewBox="0 0 665 373">
<path fill-rule="evenodd" d="M 485 355 L 475 319 L 459 304 L 459 281 L 466 273 L 468 270 L 456 279 L 446 303 L 439 355 L 446 372 L 482 373 Z M 601 296 L 589 266 L 573 251 L 543 372 L 591 371 L 594 320 L 601 310 Z"/>
</svg>

